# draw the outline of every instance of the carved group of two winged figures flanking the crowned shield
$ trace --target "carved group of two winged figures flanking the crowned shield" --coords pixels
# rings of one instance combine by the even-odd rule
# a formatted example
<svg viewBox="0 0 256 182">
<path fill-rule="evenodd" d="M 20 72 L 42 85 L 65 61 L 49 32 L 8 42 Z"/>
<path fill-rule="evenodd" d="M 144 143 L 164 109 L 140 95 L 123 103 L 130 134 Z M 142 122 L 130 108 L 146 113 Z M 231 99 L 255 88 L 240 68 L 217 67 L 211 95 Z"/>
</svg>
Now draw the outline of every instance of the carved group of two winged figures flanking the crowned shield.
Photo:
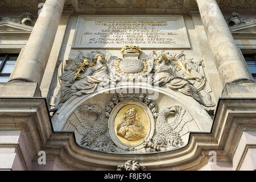
<svg viewBox="0 0 256 182">
<path fill-rule="evenodd" d="M 153 51 L 148 57 L 139 59 L 138 47 L 125 48 L 126 51 L 122 52 L 123 59 L 109 53 L 105 56 L 101 52 L 91 52 L 85 56 L 79 52 L 77 60 L 63 61 L 59 66 L 59 85 L 51 100 L 51 105 L 54 107 L 51 111 L 55 112 L 73 95 L 90 94 L 99 86 L 101 88 L 115 86 L 123 80 L 126 81 L 127 78 L 142 80 L 152 87 L 165 86 L 191 96 L 205 107 L 215 105 L 209 94 L 212 90 L 205 77 L 203 64 L 187 59 L 184 51 L 179 54 Z M 138 67 L 131 65 L 120 68 L 122 62 L 130 65 L 126 64 L 129 61 L 136 62 L 137 64 L 134 65 Z"/>
</svg>

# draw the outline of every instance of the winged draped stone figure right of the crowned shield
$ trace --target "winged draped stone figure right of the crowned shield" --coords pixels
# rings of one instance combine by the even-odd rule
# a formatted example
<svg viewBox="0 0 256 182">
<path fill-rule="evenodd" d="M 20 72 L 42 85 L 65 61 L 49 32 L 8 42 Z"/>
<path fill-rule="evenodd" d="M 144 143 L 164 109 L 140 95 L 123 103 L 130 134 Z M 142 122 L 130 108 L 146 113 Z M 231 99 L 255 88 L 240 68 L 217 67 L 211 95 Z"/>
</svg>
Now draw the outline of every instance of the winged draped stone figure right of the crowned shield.
<svg viewBox="0 0 256 182">
<path fill-rule="evenodd" d="M 203 66 L 185 58 L 183 52 L 179 55 L 170 53 L 155 53 L 153 69 L 155 86 L 164 86 L 193 97 L 200 104 L 212 107 L 210 86 L 206 81 Z"/>
</svg>

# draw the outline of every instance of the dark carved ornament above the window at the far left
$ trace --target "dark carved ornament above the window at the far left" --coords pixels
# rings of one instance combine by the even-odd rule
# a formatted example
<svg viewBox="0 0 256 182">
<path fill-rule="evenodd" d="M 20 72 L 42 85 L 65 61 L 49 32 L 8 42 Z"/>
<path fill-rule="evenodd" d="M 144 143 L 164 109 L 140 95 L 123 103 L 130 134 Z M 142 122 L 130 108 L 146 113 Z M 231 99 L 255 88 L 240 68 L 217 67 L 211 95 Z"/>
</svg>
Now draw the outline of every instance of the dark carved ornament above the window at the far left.
<svg viewBox="0 0 256 182">
<path fill-rule="evenodd" d="M 27 26 L 34 26 L 36 22 L 36 18 L 29 12 L 23 13 L 19 17 L 3 17 L 3 18 L 0 18 L 0 20 L 20 23 Z"/>
</svg>

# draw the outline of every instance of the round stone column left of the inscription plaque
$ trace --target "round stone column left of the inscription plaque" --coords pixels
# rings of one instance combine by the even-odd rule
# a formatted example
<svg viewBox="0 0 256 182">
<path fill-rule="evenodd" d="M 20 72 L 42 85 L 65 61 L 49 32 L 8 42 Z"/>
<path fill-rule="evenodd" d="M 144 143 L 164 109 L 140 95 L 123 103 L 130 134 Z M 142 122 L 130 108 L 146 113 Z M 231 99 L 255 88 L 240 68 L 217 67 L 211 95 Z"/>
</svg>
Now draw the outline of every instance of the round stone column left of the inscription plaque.
<svg viewBox="0 0 256 182">
<path fill-rule="evenodd" d="M 40 86 L 59 26 L 65 0 L 47 0 L 9 82 L 37 82 Z"/>
</svg>

